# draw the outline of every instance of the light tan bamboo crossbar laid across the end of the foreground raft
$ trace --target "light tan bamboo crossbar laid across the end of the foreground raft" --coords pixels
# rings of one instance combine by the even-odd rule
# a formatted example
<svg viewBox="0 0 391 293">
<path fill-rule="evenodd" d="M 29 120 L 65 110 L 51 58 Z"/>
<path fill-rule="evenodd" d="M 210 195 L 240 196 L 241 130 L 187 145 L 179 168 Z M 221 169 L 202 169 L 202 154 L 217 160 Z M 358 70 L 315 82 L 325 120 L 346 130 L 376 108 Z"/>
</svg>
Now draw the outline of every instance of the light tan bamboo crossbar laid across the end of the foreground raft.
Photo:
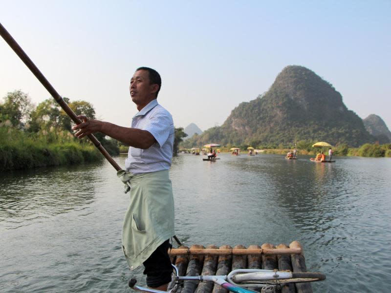
<svg viewBox="0 0 391 293">
<path fill-rule="evenodd" d="M 299 248 L 264 248 L 264 249 L 195 249 L 195 248 L 175 248 L 169 250 L 171 255 L 273 255 L 273 254 L 300 254 Z"/>
</svg>

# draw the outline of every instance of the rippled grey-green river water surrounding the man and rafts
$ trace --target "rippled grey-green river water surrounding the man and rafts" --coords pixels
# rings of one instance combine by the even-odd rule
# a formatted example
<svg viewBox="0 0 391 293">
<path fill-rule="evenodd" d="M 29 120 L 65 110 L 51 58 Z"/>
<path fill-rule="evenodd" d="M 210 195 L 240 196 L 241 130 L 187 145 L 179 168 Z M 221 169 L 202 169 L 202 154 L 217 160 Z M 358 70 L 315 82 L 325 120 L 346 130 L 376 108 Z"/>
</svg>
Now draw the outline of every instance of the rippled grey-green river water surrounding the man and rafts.
<svg viewBox="0 0 391 293">
<path fill-rule="evenodd" d="M 298 240 L 308 271 L 327 276 L 315 292 L 390 291 L 391 159 L 219 157 L 174 158 L 175 230 L 185 245 Z M 121 250 L 128 196 L 107 162 L 0 173 L 0 291 L 128 292 L 131 276 L 145 283 Z"/>
</svg>

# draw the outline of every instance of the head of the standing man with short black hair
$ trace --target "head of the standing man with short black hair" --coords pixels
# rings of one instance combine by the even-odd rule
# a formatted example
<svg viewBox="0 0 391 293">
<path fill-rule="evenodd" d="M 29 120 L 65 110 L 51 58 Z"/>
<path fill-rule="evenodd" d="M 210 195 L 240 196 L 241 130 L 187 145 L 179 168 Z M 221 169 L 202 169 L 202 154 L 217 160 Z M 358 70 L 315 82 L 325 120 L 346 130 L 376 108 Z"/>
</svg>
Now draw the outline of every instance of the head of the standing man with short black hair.
<svg viewBox="0 0 391 293">
<path fill-rule="evenodd" d="M 143 108 L 149 102 L 157 98 L 161 87 L 159 73 L 149 67 L 139 67 L 130 79 L 131 100 Z"/>
</svg>

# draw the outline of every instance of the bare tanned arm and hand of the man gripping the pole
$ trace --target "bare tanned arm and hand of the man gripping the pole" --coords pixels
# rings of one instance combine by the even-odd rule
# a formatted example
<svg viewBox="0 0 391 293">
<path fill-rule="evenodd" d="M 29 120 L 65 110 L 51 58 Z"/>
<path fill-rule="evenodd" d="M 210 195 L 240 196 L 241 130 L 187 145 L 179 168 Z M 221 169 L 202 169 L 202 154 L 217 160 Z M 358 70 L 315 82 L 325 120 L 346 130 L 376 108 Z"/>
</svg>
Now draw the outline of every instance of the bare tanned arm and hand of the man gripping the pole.
<svg viewBox="0 0 391 293">
<path fill-rule="evenodd" d="M 109 122 L 88 119 L 85 115 L 79 115 L 83 123 L 73 126 L 77 138 L 83 138 L 88 134 L 101 132 L 109 137 L 116 139 L 126 145 L 147 149 L 156 143 L 153 135 L 147 131 L 138 128 L 129 128 L 118 126 Z"/>
</svg>

